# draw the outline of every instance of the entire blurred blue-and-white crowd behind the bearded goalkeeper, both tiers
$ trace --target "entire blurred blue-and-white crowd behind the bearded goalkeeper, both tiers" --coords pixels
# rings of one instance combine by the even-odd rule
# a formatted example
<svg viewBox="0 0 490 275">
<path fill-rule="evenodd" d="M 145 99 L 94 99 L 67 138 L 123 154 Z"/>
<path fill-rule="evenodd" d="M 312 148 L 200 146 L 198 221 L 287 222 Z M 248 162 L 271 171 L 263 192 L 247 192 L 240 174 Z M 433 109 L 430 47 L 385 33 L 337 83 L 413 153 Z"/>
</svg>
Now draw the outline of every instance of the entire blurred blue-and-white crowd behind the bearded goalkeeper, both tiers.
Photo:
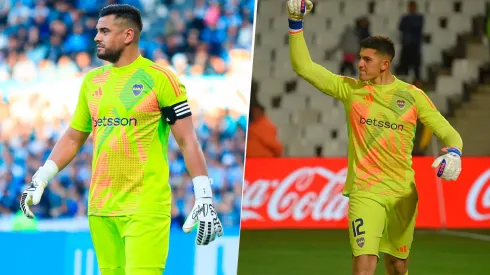
<svg viewBox="0 0 490 275">
<path fill-rule="evenodd" d="M 143 56 L 179 75 L 228 75 L 232 55 L 252 43 L 254 1 L 125 0 L 0 1 L 0 82 L 32 83 L 80 77 L 103 63 L 95 56 L 98 10 L 109 3 L 140 9 Z M 243 54 L 235 56 L 244 57 Z M 248 56 L 249 57 L 249 56 Z M 1 91 L 0 91 L 1 92 Z M 26 183 L 44 163 L 71 119 L 42 92 L 3 94 L 0 100 L 0 215 L 19 210 Z M 216 210 L 225 226 L 240 221 L 246 117 L 227 110 L 204 112 L 193 106 L 199 140 L 213 178 Z M 173 225 L 181 226 L 194 203 L 192 182 L 180 149 L 169 140 Z M 72 163 L 50 183 L 39 218 L 86 215 L 92 160 L 91 137 Z"/>
</svg>

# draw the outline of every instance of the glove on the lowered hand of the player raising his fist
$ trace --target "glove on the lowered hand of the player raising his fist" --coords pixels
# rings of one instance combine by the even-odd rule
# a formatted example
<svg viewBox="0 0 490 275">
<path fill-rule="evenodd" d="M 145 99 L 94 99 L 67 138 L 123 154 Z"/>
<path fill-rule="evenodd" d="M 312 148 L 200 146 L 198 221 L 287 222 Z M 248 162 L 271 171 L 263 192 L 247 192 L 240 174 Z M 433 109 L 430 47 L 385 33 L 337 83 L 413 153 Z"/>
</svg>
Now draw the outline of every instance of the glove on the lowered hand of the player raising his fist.
<svg viewBox="0 0 490 275">
<path fill-rule="evenodd" d="M 461 173 L 461 151 L 458 148 L 442 149 L 446 154 L 438 157 L 432 163 L 432 168 L 437 167 L 437 176 L 445 180 L 457 180 Z"/>
</svg>

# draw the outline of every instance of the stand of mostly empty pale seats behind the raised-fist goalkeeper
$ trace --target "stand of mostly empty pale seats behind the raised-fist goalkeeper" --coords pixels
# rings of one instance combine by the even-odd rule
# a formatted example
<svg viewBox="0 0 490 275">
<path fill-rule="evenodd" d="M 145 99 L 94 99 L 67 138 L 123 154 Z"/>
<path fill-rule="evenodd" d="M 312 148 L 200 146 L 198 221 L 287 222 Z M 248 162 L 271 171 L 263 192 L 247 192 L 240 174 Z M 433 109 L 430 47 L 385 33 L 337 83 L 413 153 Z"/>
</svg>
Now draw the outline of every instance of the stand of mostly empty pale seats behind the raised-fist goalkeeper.
<svg viewBox="0 0 490 275">
<path fill-rule="evenodd" d="M 305 20 L 305 37 L 313 60 L 339 74 L 345 61 L 335 51 L 354 29 L 359 39 L 387 35 L 394 42 L 393 67 L 400 65 L 401 17 L 407 0 L 317 0 Z M 424 90 L 441 113 L 461 132 L 465 155 L 489 155 L 490 2 L 486 0 L 417 0 L 424 17 L 420 79 L 413 72 L 397 77 Z M 292 70 L 285 5 L 259 1 L 254 48 L 254 95 L 276 124 L 286 156 L 345 156 L 347 131 L 340 102 L 323 95 Z M 366 24 L 367 23 L 367 24 Z M 332 49 L 334 49 L 332 51 Z M 342 49 L 342 48 L 340 48 Z M 257 62 L 264 60 L 266 62 Z M 357 62 L 357 61 L 355 61 Z M 357 69 L 356 69 L 357 70 Z M 431 133 L 420 126 L 414 154 L 430 153 Z"/>
</svg>

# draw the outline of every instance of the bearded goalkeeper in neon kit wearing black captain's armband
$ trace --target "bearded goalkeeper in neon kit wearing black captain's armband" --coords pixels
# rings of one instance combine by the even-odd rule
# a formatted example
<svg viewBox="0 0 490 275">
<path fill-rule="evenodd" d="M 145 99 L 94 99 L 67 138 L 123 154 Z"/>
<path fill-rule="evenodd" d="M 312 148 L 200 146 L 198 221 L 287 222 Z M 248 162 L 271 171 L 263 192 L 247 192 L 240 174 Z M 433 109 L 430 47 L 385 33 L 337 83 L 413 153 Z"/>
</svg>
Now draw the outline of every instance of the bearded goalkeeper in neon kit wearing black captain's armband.
<svg viewBox="0 0 490 275">
<path fill-rule="evenodd" d="M 172 131 L 192 177 L 195 204 L 184 223 L 199 222 L 196 243 L 223 228 L 192 124 L 185 86 L 138 49 L 140 13 L 129 5 L 100 11 L 97 56 L 111 64 L 85 76 L 73 120 L 21 197 L 33 218 L 49 181 L 76 156 L 90 133 L 94 149 L 88 218 L 102 275 L 161 275 L 168 255 L 171 201 L 167 148 Z"/>
</svg>

